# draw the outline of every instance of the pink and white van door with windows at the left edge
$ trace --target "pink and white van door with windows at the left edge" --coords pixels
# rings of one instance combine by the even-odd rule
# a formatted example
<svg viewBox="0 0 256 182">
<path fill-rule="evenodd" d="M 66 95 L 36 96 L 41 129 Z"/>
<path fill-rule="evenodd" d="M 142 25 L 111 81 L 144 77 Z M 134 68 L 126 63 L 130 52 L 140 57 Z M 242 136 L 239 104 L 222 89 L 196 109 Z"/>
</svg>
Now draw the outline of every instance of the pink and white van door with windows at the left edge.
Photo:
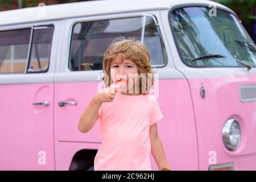
<svg viewBox="0 0 256 182">
<path fill-rule="evenodd" d="M 53 28 L 0 28 L 0 169 L 55 169 Z"/>
</svg>

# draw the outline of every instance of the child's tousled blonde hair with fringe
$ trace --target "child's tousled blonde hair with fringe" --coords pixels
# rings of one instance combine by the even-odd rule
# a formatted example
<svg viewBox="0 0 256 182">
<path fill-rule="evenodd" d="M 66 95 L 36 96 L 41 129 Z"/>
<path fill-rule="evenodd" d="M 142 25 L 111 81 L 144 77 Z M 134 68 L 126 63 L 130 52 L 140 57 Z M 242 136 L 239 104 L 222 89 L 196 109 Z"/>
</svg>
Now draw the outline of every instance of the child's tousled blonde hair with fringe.
<svg viewBox="0 0 256 182">
<path fill-rule="evenodd" d="M 114 39 L 110 46 L 106 49 L 103 57 L 103 71 L 105 76 L 102 77 L 106 87 L 113 83 L 110 76 L 110 66 L 116 56 L 123 59 L 130 59 L 138 67 L 139 74 L 139 93 L 147 94 L 150 92 L 151 86 L 154 84 L 154 71 L 150 64 L 150 53 L 147 47 L 134 38 L 119 37 Z"/>
</svg>

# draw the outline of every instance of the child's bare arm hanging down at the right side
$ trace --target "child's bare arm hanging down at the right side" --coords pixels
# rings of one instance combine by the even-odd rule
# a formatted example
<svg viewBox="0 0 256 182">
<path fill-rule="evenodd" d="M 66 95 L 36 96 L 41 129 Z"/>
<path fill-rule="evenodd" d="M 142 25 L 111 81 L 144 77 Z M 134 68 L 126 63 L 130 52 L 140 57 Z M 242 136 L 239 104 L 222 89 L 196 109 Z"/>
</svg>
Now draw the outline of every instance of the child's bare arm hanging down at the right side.
<svg viewBox="0 0 256 182">
<path fill-rule="evenodd" d="M 158 164 L 159 170 L 162 170 L 163 168 L 170 169 L 166 155 L 164 154 L 163 144 L 158 137 L 156 123 L 150 126 L 149 134 L 151 142 L 151 154 L 154 157 L 156 164 Z"/>
</svg>

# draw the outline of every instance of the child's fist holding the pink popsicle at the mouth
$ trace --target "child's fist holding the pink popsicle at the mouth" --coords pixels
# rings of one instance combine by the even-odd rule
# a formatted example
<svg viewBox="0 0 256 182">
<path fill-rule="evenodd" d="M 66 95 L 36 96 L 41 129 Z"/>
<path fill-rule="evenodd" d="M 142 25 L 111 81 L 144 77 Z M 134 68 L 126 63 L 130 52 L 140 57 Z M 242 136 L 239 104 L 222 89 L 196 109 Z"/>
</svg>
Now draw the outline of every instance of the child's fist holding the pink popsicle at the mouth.
<svg viewBox="0 0 256 182">
<path fill-rule="evenodd" d="M 111 87 L 102 89 L 94 95 L 94 98 L 95 98 L 95 100 L 97 100 L 101 103 L 102 102 L 112 102 L 115 98 L 115 89 L 111 88 Z"/>
</svg>

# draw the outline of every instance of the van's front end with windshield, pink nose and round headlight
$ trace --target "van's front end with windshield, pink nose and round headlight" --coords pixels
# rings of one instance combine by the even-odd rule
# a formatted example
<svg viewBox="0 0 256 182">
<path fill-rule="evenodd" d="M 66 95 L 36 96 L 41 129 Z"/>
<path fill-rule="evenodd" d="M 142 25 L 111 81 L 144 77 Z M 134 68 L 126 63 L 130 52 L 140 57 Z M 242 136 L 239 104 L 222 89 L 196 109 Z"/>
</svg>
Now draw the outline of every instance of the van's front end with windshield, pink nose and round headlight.
<svg viewBox="0 0 256 182">
<path fill-rule="evenodd" d="M 255 44 L 236 15 L 222 9 L 217 16 L 208 5 L 170 11 L 175 64 L 191 88 L 199 169 L 233 162 L 236 170 L 255 170 Z M 238 124 L 224 126 L 232 118 Z"/>
</svg>

